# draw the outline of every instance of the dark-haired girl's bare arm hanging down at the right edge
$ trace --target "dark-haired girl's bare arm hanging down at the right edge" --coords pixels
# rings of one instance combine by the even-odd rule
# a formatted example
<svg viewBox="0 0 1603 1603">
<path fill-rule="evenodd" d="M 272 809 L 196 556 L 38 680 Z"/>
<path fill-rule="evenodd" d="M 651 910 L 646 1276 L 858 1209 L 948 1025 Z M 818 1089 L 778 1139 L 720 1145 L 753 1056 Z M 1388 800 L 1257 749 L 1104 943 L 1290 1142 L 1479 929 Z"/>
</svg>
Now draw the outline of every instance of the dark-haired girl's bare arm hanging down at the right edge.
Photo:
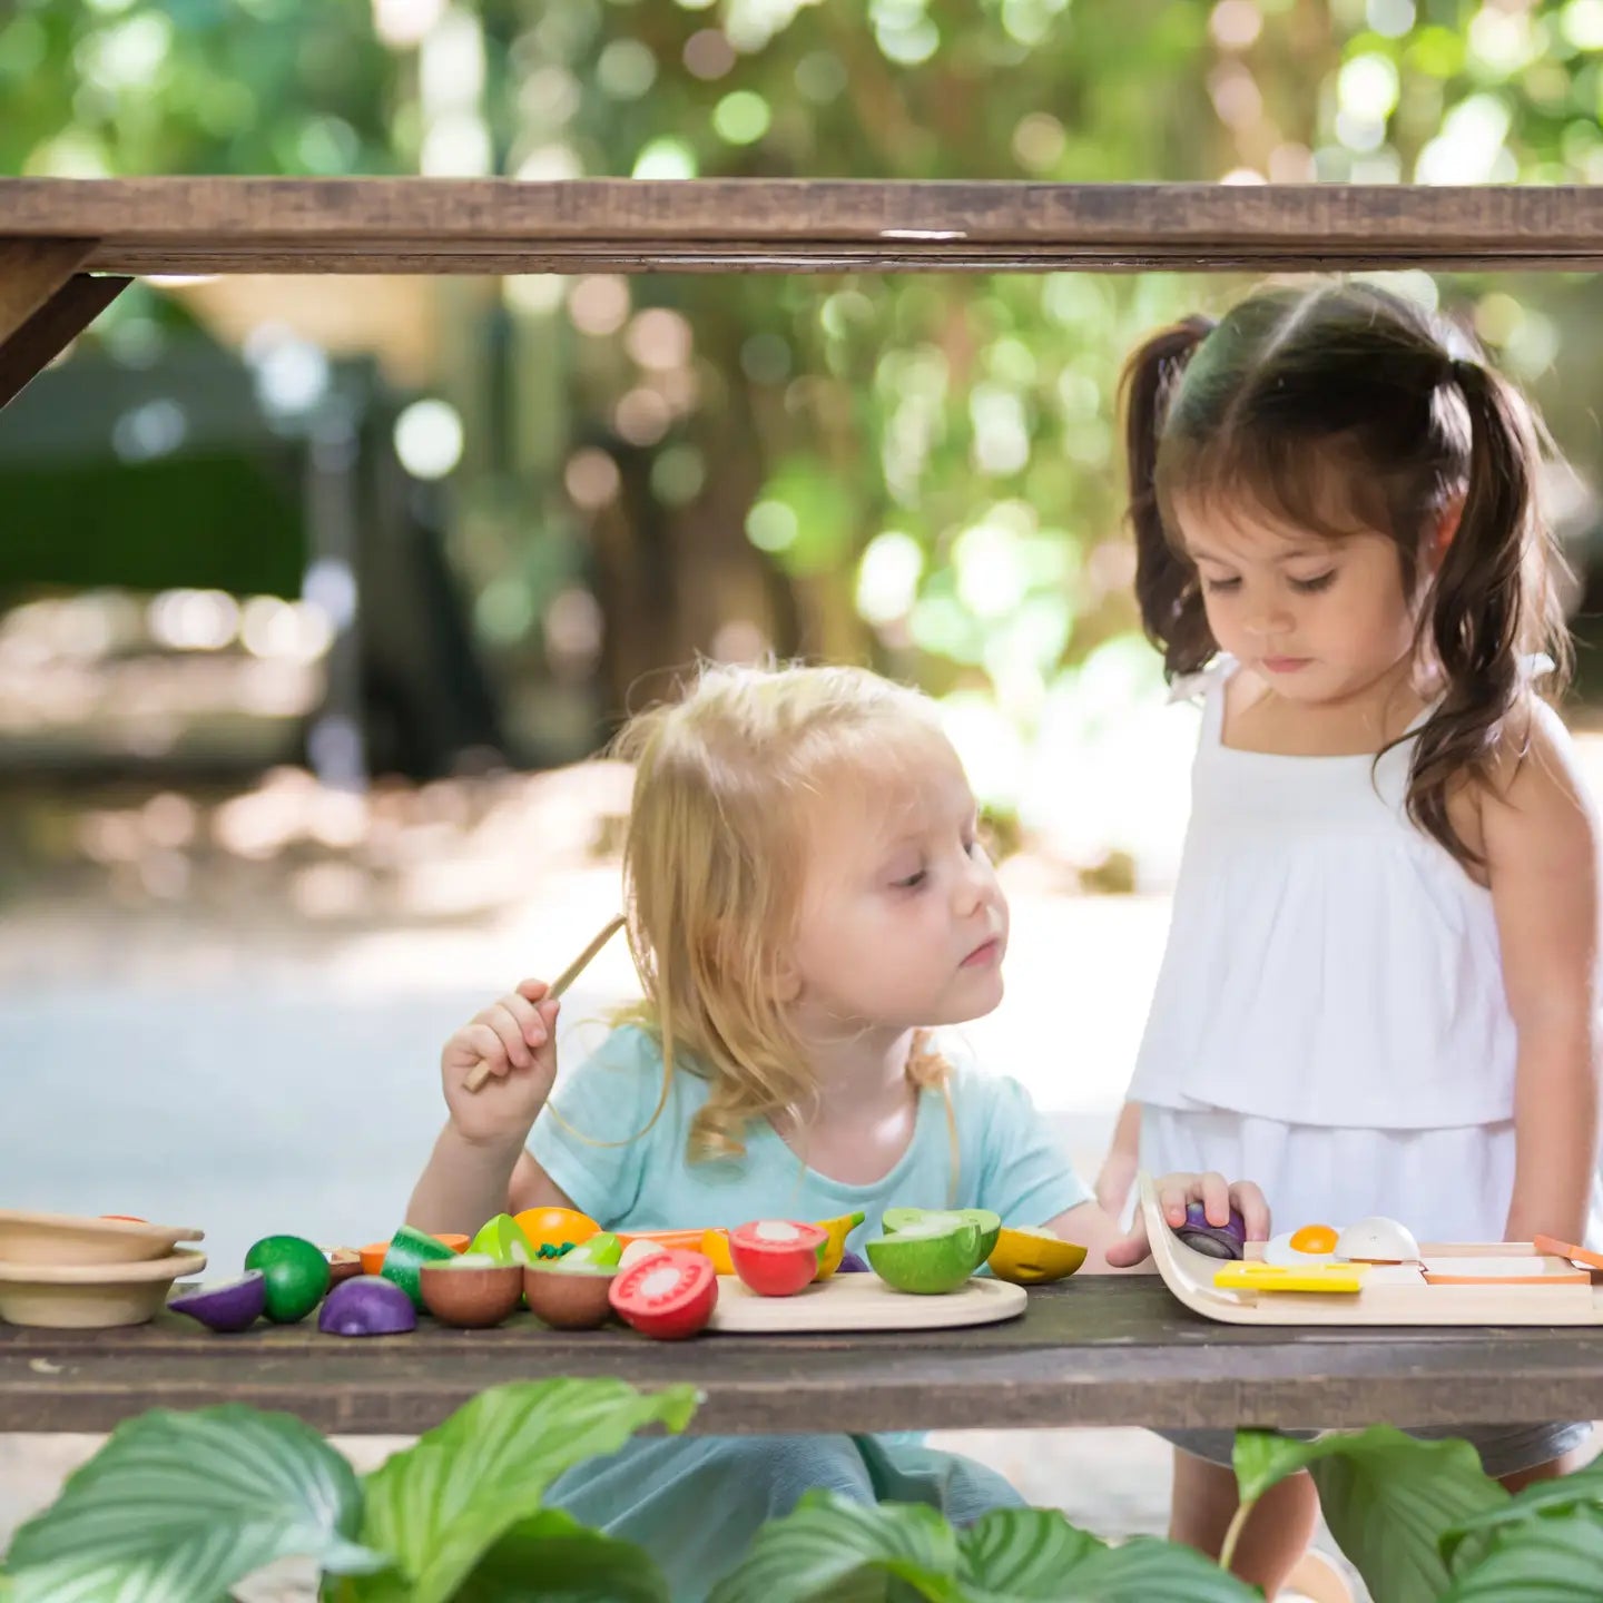
<svg viewBox="0 0 1603 1603">
<path fill-rule="evenodd" d="M 1520 1034 L 1505 1239 L 1582 1241 L 1598 1145 L 1598 822 L 1557 713 L 1481 798 L 1504 991 Z"/>
</svg>

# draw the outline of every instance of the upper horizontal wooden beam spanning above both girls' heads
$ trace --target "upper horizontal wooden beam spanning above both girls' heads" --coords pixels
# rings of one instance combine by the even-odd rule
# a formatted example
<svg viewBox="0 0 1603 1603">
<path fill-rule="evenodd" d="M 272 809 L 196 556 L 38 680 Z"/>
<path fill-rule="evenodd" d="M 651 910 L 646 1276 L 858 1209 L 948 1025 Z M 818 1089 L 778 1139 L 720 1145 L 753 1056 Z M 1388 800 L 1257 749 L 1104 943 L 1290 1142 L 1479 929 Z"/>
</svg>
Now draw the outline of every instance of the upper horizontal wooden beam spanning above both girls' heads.
<svg viewBox="0 0 1603 1603">
<path fill-rule="evenodd" d="M 6 236 L 115 273 L 1590 268 L 1603 189 L 13 178 Z"/>
</svg>

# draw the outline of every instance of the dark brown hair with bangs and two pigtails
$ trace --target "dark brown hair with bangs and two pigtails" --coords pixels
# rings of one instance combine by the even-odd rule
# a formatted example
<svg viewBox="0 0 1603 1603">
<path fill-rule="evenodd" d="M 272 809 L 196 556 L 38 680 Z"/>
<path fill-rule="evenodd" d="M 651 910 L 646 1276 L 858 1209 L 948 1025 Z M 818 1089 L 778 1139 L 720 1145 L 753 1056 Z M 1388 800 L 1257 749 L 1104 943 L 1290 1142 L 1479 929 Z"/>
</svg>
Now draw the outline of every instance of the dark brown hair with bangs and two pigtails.
<svg viewBox="0 0 1603 1603">
<path fill-rule="evenodd" d="M 1524 398 L 1457 327 L 1366 284 L 1268 289 L 1217 325 L 1188 317 L 1130 357 L 1122 390 L 1135 590 L 1170 678 L 1218 652 L 1177 500 L 1255 507 L 1330 539 L 1382 532 L 1414 595 L 1425 543 L 1464 497 L 1420 600 L 1419 651 L 1444 694 L 1419 731 L 1407 811 L 1476 862 L 1448 797 L 1488 781 L 1507 742 L 1523 753 L 1521 659 L 1545 651 L 1560 689 L 1569 665 L 1561 563 L 1536 505 L 1544 436 Z"/>
</svg>

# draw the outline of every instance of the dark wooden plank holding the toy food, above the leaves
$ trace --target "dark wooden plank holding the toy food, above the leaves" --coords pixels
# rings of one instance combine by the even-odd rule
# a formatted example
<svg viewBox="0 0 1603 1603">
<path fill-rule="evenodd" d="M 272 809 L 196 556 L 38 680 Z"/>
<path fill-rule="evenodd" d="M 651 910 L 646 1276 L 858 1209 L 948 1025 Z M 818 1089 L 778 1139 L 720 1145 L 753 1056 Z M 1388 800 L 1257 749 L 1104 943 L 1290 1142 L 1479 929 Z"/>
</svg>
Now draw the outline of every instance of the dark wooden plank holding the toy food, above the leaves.
<svg viewBox="0 0 1603 1603">
<path fill-rule="evenodd" d="M 1032 1290 L 1007 1324 L 962 1330 L 564 1334 L 378 1340 L 311 1322 L 213 1335 L 176 1314 L 128 1330 L 0 1326 L 0 1431 L 99 1431 L 146 1407 L 244 1401 L 330 1433 L 412 1435 L 486 1387 L 617 1375 L 691 1382 L 704 1433 L 1063 1425 L 1468 1425 L 1603 1417 L 1603 1330 L 1242 1329 L 1181 1308 L 1156 1276 Z"/>
</svg>

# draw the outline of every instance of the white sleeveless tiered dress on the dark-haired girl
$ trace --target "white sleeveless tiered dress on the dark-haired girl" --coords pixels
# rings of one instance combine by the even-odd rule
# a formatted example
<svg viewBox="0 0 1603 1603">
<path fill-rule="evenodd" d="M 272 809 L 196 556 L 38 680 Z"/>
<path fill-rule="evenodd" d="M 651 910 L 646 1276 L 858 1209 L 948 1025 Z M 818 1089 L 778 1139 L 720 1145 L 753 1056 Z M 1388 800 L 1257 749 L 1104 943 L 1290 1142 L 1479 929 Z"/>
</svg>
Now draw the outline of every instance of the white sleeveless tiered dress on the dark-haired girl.
<svg viewBox="0 0 1603 1603">
<path fill-rule="evenodd" d="M 1204 718 L 1130 1085 L 1141 1165 L 1255 1180 L 1276 1231 L 1383 1213 L 1500 1241 L 1518 1037 L 1491 891 L 1409 821 L 1412 741 L 1379 763 L 1223 745 L 1234 667 L 1181 686 Z"/>
</svg>

